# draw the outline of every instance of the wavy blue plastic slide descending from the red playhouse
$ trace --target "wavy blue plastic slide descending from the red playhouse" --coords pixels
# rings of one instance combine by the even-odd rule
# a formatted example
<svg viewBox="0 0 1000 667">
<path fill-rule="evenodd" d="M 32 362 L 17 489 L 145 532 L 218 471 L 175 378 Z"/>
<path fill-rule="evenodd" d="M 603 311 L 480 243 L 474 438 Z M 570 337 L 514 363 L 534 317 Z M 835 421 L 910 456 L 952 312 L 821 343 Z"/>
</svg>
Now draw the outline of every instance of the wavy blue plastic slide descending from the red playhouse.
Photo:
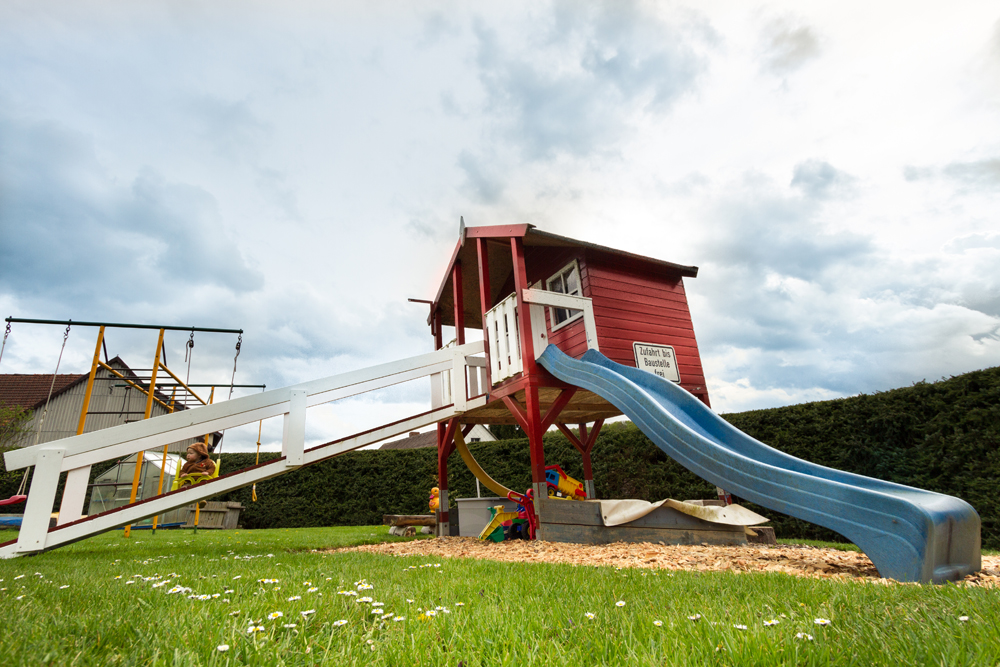
<svg viewBox="0 0 1000 667">
<path fill-rule="evenodd" d="M 834 470 L 754 440 L 663 378 L 589 350 L 538 362 L 610 401 L 672 459 L 740 498 L 835 530 L 879 574 L 940 583 L 981 567 L 979 515 L 958 498 Z"/>
</svg>

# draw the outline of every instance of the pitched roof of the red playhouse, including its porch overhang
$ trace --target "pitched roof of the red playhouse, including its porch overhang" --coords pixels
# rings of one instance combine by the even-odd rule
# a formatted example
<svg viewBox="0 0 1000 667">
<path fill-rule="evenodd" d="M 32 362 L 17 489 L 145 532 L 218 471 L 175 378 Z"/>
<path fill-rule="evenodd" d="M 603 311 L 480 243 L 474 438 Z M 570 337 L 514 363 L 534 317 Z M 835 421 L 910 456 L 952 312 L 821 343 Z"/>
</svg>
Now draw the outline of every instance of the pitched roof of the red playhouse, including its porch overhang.
<svg viewBox="0 0 1000 667">
<path fill-rule="evenodd" d="M 512 269 L 511 250 L 509 239 L 520 237 L 524 247 L 555 247 L 555 248 L 582 248 L 588 254 L 597 257 L 605 257 L 613 260 L 622 266 L 634 267 L 637 270 L 654 274 L 668 274 L 685 278 L 694 278 L 698 275 L 697 266 L 684 266 L 662 259 L 636 255 L 616 248 L 579 241 L 558 234 L 551 234 L 536 229 L 534 225 L 494 225 L 489 227 L 465 227 L 459 230 L 458 243 L 452 253 L 451 261 L 448 262 L 447 270 L 441 281 L 441 286 L 434 296 L 434 303 L 431 312 L 441 309 L 441 323 L 446 326 L 455 325 L 454 316 L 454 291 L 452 289 L 453 268 L 456 262 L 461 262 L 462 267 L 462 294 L 464 295 L 465 325 L 467 327 L 481 327 L 482 313 L 480 312 L 479 294 L 479 258 L 476 254 L 476 244 L 466 243 L 470 239 L 487 239 L 487 253 L 490 267 L 490 295 L 491 303 L 496 303 L 499 292 L 510 277 Z M 430 318 L 428 317 L 428 323 Z"/>
</svg>

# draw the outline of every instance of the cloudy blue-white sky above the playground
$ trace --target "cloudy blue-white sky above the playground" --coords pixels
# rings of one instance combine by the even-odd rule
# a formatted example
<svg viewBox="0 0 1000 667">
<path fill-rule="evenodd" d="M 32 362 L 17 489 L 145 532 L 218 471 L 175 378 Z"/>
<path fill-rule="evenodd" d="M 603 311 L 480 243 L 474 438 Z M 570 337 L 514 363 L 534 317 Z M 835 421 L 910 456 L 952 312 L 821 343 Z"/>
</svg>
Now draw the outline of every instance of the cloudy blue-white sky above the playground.
<svg viewBox="0 0 1000 667">
<path fill-rule="evenodd" d="M 1000 7 L 0 5 L 4 316 L 243 328 L 237 382 L 276 388 L 428 350 L 406 299 L 460 215 L 699 266 L 720 412 L 996 366 Z M 15 325 L 0 372 L 52 372 L 60 341 Z M 108 343 L 148 367 L 155 334 Z M 234 344 L 197 336 L 192 382 L 228 382 Z"/>
</svg>

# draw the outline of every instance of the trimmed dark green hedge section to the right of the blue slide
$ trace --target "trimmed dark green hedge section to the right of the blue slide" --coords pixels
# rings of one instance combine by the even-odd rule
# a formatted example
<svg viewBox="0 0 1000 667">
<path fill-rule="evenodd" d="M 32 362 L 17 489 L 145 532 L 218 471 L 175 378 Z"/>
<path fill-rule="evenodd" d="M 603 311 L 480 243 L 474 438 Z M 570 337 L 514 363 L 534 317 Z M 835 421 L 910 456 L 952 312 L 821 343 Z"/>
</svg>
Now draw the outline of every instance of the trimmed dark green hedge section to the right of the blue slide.
<svg viewBox="0 0 1000 667">
<path fill-rule="evenodd" d="M 956 496 L 1000 549 L 1000 367 L 872 395 L 724 417 L 744 433 L 821 465 Z M 788 537 L 830 539 L 813 524 L 775 517 Z"/>
</svg>

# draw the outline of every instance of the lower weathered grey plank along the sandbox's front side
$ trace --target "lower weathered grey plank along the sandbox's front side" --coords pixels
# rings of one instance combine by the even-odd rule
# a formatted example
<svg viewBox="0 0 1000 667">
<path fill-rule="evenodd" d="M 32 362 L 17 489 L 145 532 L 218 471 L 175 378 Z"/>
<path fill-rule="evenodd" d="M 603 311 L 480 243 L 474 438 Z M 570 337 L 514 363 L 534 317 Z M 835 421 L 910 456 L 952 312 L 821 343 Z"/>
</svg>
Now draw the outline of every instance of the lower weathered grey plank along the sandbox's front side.
<svg viewBox="0 0 1000 667">
<path fill-rule="evenodd" d="M 611 544 L 613 542 L 649 542 L 651 544 L 713 544 L 741 545 L 747 543 L 740 526 L 712 524 L 719 529 L 697 528 L 633 528 L 630 526 L 577 526 L 573 524 L 542 522 L 538 539 L 546 542 L 572 544 Z M 738 530 L 729 530 L 738 528 Z"/>
</svg>

